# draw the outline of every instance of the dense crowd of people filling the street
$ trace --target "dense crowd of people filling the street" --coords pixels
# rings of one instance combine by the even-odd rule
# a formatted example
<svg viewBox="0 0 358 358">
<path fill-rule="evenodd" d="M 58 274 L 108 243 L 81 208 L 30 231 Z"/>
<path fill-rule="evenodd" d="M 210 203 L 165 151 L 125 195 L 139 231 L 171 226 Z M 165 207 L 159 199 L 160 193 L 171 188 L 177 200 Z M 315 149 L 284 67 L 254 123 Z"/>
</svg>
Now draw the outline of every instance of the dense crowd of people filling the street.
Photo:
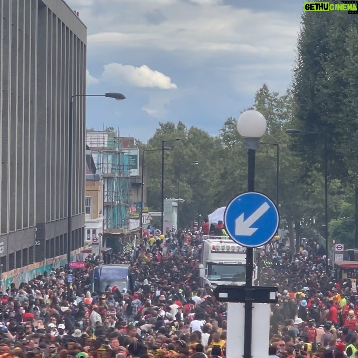
<svg viewBox="0 0 358 358">
<path fill-rule="evenodd" d="M 114 263 L 131 265 L 133 292 L 92 292 L 101 262 L 91 256 L 86 269 L 73 272 L 69 290 L 66 268 L 11 284 L 0 296 L 0 358 L 225 357 L 226 305 L 199 281 L 201 234 L 146 230 L 143 244 L 113 255 Z M 280 240 L 261 252 L 260 284 L 280 292 L 271 307 L 269 357 L 358 357 L 356 292 L 350 280 L 325 274 L 318 251 L 307 242 L 291 256 Z M 254 344 L 260 340 L 254 333 Z"/>
</svg>

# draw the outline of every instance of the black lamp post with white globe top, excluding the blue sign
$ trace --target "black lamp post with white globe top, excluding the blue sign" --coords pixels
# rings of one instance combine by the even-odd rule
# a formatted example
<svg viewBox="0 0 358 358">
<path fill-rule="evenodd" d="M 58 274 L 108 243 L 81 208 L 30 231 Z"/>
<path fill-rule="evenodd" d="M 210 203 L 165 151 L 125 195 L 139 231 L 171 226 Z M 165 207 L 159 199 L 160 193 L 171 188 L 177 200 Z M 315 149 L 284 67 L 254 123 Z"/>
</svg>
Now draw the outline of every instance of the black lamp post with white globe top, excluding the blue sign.
<svg viewBox="0 0 358 358">
<path fill-rule="evenodd" d="M 237 123 L 237 130 L 243 137 L 248 148 L 248 185 L 247 191 L 255 190 L 255 150 L 260 138 L 266 132 L 266 119 L 258 111 L 248 110 L 243 112 Z M 253 274 L 254 274 L 254 249 L 246 248 L 246 276 L 245 276 L 245 332 L 244 332 L 244 358 L 251 358 L 252 346 L 252 310 L 253 310 Z"/>
</svg>

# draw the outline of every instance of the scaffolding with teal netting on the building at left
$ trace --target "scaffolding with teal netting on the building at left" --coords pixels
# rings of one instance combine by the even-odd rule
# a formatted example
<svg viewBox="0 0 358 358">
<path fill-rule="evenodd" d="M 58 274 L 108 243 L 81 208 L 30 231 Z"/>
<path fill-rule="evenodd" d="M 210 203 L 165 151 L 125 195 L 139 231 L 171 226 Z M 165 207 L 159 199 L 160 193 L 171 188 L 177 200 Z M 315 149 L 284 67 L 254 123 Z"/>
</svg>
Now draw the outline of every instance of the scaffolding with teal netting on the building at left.
<svg viewBox="0 0 358 358">
<path fill-rule="evenodd" d="M 103 175 L 104 232 L 126 232 L 132 189 L 128 152 L 123 151 L 120 138 L 108 132 L 87 131 L 86 144 Z"/>
</svg>

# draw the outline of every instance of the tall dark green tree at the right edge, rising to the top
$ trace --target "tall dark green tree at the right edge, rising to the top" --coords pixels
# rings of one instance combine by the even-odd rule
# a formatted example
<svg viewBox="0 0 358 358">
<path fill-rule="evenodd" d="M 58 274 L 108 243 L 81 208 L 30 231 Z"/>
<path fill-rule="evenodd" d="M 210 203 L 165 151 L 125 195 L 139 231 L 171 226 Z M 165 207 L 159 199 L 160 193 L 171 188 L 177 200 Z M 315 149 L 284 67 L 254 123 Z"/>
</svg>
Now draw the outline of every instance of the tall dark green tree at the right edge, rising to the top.
<svg viewBox="0 0 358 358">
<path fill-rule="evenodd" d="M 304 12 L 294 73 L 296 125 L 327 132 L 330 178 L 344 181 L 358 172 L 357 30 L 358 18 L 343 11 Z M 293 149 L 306 170 L 315 163 L 322 170 L 323 145 L 322 137 L 302 135 Z"/>
</svg>

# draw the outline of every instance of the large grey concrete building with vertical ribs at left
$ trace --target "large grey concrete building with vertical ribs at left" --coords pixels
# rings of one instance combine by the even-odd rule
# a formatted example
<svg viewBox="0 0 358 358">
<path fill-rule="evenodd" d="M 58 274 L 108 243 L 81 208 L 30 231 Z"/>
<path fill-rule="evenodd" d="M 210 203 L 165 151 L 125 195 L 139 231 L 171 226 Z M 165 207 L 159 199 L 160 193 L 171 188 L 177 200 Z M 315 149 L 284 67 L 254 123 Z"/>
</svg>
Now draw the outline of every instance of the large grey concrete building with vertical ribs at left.
<svg viewBox="0 0 358 358">
<path fill-rule="evenodd" d="M 66 254 L 69 101 L 85 94 L 86 35 L 86 26 L 63 0 L 0 0 L 4 272 L 25 267 L 31 275 L 27 265 L 37 262 L 38 268 L 45 259 Z M 75 100 L 73 118 L 71 248 L 76 250 L 84 243 L 85 225 L 84 99 Z"/>
</svg>

